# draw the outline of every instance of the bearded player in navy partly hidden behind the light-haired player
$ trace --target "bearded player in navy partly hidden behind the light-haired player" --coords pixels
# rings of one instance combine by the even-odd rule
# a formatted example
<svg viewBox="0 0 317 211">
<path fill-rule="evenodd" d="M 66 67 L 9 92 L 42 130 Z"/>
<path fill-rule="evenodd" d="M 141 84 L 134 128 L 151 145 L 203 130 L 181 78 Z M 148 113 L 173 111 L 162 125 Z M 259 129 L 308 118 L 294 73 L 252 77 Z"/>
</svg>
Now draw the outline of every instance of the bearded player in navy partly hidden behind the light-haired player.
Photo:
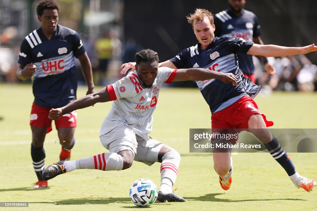
<svg viewBox="0 0 317 211">
<path fill-rule="evenodd" d="M 253 41 L 256 44 L 264 45 L 261 40 L 261 28 L 258 18 L 253 12 L 243 9 L 245 0 L 228 0 L 229 9 L 223 10 L 215 15 L 215 36 L 216 37 L 240 37 L 244 40 Z M 252 55 L 237 53 L 239 68 L 243 75 L 255 83 L 254 65 Z M 275 74 L 275 68 L 267 58 L 262 57 L 262 63 L 268 75 Z"/>
</svg>

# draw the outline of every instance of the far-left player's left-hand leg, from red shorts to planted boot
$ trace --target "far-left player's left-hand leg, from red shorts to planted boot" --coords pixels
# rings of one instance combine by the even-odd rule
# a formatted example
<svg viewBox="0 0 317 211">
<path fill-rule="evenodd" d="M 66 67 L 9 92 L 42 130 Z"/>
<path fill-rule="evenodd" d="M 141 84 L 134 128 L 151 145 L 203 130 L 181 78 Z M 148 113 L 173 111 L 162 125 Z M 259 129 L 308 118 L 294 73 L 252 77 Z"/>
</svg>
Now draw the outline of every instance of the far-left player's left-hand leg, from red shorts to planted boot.
<svg viewBox="0 0 317 211">
<path fill-rule="evenodd" d="M 34 171 L 36 173 L 38 182 L 33 188 L 44 188 L 48 186 L 47 181 L 43 181 L 42 173 L 45 165 L 45 150 L 43 143 L 46 133 L 52 130 L 52 121 L 49 120 L 48 108 L 33 103 L 30 115 L 30 126 L 32 131 L 31 157 Z"/>
</svg>

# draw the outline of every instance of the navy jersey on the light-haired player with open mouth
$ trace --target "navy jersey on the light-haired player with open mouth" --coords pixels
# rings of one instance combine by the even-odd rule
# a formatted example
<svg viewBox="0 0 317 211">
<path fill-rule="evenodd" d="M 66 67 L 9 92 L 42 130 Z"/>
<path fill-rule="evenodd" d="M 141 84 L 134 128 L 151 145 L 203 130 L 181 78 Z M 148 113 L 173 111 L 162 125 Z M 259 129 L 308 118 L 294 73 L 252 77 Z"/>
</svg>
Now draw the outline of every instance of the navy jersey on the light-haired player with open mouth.
<svg viewBox="0 0 317 211">
<path fill-rule="evenodd" d="M 249 78 L 242 76 L 236 57 L 238 52 L 247 53 L 252 45 L 252 41 L 242 38 L 214 37 L 205 50 L 201 50 L 198 43 L 196 46 L 184 49 L 170 60 L 177 68 L 201 67 L 210 71 L 230 72 L 238 77 L 237 86 L 233 86 L 232 83 L 225 84 L 219 79 L 196 81 L 211 113 L 215 113 L 227 108 L 243 95 L 254 97 L 260 91 L 261 86 L 253 84 Z"/>
</svg>

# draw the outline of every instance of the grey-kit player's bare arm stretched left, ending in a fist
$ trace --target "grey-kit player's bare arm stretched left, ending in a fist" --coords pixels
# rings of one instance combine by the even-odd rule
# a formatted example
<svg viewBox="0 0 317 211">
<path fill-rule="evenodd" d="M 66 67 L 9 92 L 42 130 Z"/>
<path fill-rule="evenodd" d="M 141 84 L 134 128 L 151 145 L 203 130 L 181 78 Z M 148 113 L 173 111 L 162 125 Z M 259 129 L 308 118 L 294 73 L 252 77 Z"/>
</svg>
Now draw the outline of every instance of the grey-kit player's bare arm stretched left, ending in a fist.
<svg viewBox="0 0 317 211">
<path fill-rule="evenodd" d="M 110 96 L 107 88 L 103 88 L 95 93 L 83 96 L 73 102 L 67 104 L 62 108 L 51 109 L 49 111 L 50 120 L 58 120 L 62 115 L 68 114 L 77 109 L 83 109 L 96 104 L 97 102 L 108 102 L 110 101 Z"/>
</svg>

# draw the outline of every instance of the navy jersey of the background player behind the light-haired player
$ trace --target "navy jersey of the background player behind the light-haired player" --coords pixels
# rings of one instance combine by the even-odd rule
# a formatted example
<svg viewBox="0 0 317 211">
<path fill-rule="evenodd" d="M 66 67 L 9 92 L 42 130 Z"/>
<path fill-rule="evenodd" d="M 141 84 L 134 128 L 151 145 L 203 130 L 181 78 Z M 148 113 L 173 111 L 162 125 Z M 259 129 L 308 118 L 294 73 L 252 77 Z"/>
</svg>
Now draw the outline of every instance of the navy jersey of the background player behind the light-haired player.
<svg viewBox="0 0 317 211">
<path fill-rule="evenodd" d="M 230 9 L 219 12 L 214 17 L 215 36 L 217 37 L 240 37 L 252 41 L 253 37 L 261 35 L 261 29 L 256 15 L 243 9 L 241 16 L 236 16 Z M 252 55 L 237 54 L 240 70 L 244 74 L 253 74 L 254 66 Z"/>
</svg>

